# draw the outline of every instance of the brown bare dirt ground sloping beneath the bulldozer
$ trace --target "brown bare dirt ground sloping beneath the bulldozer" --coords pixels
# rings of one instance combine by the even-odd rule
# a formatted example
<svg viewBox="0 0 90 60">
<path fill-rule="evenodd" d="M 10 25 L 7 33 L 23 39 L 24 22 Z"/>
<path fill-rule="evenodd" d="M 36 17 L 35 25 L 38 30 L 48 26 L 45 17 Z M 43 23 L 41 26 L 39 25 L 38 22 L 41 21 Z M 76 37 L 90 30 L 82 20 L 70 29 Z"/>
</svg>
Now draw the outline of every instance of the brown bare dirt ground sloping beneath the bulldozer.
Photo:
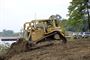
<svg viewBox="0 0 90 60">
<path fill-rule="evenodd" d="M 11 55 L 5 60 L 90 60 L 90 41 L 75 39 L 68 41 L 67 44 L 54 41 L 54 44 L 50 46 L 42 45 L 26 52 L 17 54 L 13 52 Z"/>
</svg>

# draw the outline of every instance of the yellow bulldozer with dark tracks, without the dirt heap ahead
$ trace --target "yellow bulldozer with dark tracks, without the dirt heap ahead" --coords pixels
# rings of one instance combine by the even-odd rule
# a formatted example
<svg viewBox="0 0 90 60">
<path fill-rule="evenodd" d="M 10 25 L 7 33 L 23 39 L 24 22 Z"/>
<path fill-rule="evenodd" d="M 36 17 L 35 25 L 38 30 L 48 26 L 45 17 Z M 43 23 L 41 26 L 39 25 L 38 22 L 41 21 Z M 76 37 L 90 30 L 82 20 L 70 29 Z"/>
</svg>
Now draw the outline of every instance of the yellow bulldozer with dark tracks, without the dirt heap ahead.
<svg viewBox="0 0 90 60">
<path fill-rule="evenodd" d="M 60 19 L 60 15 L 52 15 L 49 19 L 38 19 L 24 23 L 24 39 L 30 46 L 51 40 L 62 40 L 62 43 L 66 43 L 65 31 L 60 25 Z"/>
</svg>

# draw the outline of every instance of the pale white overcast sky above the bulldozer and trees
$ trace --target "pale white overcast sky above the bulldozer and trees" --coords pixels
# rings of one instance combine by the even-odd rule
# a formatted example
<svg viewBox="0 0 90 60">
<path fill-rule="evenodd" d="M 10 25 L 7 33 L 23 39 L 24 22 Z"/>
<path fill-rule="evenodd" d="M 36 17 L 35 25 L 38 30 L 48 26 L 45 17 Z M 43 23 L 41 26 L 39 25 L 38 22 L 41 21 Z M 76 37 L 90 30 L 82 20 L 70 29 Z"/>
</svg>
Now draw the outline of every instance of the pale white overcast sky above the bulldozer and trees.
<svg viewBox="0 0 90 60">
<path fill-rule="evenodd" d="M 72 0 L 0 0 L 0 31 L 20 31 L 25 22 L 59 14 L 67 18 Z"/>
</svg>

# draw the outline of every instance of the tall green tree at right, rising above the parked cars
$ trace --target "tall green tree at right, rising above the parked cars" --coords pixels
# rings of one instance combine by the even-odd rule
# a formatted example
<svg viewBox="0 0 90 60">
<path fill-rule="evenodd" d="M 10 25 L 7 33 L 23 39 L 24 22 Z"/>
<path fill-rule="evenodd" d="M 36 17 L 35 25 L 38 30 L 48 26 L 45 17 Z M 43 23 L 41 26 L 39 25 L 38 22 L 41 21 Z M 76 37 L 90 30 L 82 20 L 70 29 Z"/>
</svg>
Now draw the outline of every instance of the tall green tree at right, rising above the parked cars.
<svg viewBox="0 0 90 60">
<path fill-rule="evenodd" d="M 69 6 L 68 24 L 76 31 L 86 31 L 90 26 L 89 20 L 89 0 L 72 0 Z M 88 18 L 86 17 L 88 15 Z M 87 18 L 87 19 L 85 19 Z M 88 22 L 88 25 L 87 25 Z"/>
</svg>

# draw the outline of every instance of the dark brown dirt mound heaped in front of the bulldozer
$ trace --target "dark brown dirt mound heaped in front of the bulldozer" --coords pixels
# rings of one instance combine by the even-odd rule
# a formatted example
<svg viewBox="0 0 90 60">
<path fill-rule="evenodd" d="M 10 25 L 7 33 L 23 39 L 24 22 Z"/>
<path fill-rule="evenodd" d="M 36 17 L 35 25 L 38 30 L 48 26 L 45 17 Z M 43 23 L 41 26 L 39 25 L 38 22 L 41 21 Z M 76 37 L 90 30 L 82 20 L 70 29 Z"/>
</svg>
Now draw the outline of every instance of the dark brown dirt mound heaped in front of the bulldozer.
<svg viewBox="0 0 90 60">
<path fill-rule="evenodd" d="M 28 51 L 27 41 L 24 39 L 19 39 L 17 42 L 13 43 L 9 48 L 8 52 L 5 55 L 5 60 L 8 60 L 15 54 L 19 54 L 22 52 Z"/>
</svg>

